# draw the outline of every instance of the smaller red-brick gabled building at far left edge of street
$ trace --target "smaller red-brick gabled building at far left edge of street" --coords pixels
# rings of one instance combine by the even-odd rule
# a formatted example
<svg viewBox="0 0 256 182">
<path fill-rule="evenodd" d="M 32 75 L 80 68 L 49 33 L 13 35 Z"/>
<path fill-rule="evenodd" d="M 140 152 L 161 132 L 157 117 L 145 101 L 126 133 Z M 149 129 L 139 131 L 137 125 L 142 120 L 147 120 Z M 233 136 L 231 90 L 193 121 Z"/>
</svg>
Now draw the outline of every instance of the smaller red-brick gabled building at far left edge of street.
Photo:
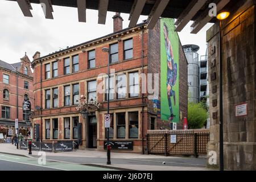
<svg viewBox="0 0 256 182">
<path fill-rule="evenodd" d="M 28 97 L 31 102 L 31 108 L 34 107 L 33 90 L 33 73 L 31 71 L 31 62 L 27 55 L 22 57 L 19 63 L 14 64 L 0 60 L 0 128 L 14 128 L 18 109 L 19 129 L 27 129 L 26 113 L 23 112 L 22 104 L 24 98 Z"/>
</svg>

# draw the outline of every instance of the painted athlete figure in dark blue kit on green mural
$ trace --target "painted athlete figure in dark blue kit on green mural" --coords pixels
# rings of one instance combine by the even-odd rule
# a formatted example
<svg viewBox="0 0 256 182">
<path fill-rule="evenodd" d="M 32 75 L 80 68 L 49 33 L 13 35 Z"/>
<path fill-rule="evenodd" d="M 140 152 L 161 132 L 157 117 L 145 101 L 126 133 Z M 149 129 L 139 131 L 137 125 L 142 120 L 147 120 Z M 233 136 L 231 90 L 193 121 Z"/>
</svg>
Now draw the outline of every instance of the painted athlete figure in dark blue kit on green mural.
<svg viewBox="0 0 256 182">
<path fill-rule="evenodd" d="M 174 97 L 174 105 L 176 105 L 175 91 L 172 88 L 176 84 L 177 64 L 176 63 L 174 64 L 174 55 L 172 53 L 172 45 L 171 45 L 171 41 L 169 40 L 169 31 L 166 23 L 164 23 L 163 32 L 164 32 L 164 40 L 165 40 L 166 55 L 167 55 L 167 81 L 166 81 L 167 98 L 168 98 L 168 104 L 169 104 L 169 109 L 171 113 L 170 118 L 168 120 L 172 121 L 175 115 L 172 110 L 171 97 Z"/>
</svg>

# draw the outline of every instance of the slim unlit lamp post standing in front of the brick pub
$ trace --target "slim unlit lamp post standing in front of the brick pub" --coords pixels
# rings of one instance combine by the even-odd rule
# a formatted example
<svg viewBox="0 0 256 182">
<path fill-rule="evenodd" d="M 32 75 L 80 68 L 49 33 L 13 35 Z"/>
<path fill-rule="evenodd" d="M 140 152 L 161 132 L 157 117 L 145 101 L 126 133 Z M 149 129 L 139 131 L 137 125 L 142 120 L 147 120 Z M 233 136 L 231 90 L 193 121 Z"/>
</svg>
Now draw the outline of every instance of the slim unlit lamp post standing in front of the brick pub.
<svg viewBox="0 0 256 182">
<path fill-rule="evenodd" d="M 110 61 L 110 50 L 109 48 L 102 48 L 103 52 L 108 52 L 108 114 L 109 114 L 109 61 Z M 111 160 L 110 160 L 110 143 L 109 143 L 109 127 L 106 128 L 107 130 L 107 163 L 106 164 L 111 164 Z"/>
</svg>

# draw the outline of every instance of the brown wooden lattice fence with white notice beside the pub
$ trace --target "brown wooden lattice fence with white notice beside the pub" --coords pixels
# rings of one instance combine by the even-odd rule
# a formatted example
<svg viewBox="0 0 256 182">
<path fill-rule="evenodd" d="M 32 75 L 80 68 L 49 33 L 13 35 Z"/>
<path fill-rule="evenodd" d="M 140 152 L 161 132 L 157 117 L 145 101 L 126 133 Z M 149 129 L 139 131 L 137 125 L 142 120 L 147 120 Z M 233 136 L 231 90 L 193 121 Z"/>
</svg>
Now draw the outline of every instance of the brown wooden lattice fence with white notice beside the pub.
<svg viewBox="0 0 256 182">
<path fill-rule="evenodd" d="M 174 137 L 175 143 L 171 143 Z M 174 141 L 172 141 L 174 142 Z M 207 155 L 209 130 L 148 130 L 148 154 Z"/>
</svg>

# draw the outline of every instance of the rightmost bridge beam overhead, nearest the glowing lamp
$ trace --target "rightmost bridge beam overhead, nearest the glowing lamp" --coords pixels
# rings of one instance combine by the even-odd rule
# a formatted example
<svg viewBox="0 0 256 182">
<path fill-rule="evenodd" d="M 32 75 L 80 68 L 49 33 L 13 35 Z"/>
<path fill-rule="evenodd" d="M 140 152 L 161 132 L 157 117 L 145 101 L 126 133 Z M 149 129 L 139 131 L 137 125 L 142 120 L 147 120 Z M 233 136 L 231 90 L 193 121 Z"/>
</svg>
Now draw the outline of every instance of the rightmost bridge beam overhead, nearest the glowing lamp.
<svg viewBox="0 0 256 182">
<path fill-rule="evenodd" d="M 222 10 L 226 5 L 228 5 L 228 3 L 230 2 L 230 0 L 221 0 L 218 4 L 217 4 L 217 13 Z M 195 20 L 195 22 L 191 25 L 191 34 L 197 34 L 204 26 L 205 24 L 209 23 L 210 20 L 213 17 L 209 16 L 209 9 L 205 10 L 205 13 L 203 14 L 203 16 L 200 16 L 197 20 Z"/>
</svg>

